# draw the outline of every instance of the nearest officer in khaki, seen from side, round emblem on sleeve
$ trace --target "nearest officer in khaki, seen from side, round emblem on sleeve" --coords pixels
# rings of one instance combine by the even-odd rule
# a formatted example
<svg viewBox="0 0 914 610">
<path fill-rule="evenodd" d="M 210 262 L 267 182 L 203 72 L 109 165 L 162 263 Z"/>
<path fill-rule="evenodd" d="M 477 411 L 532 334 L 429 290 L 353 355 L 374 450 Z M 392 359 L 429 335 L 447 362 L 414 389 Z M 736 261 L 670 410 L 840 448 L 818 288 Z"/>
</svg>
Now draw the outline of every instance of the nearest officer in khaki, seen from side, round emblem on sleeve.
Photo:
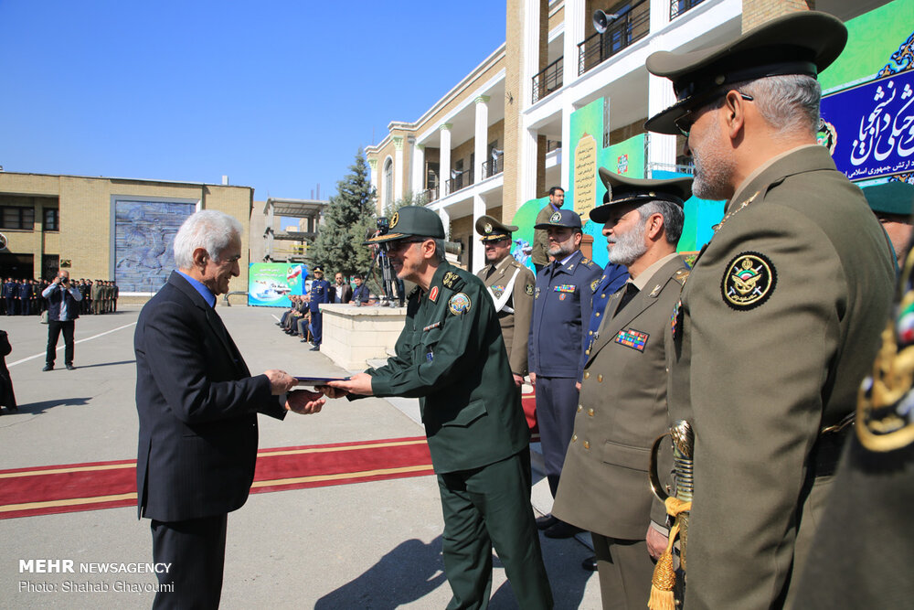
<svg viewBox="0 0 914 610">
<path fill-rule="evenodd" d="M 673 319 L 669 411 L 695 433 L 688 610 L 790 605 L 891 302 L 885 233 L 816 144 L 815 78 L 846 39 L 803 11 L 647 59 L 677 102 L 645 127 L 684 134 L 693 194 L 728 200 Z"/>
</svg>

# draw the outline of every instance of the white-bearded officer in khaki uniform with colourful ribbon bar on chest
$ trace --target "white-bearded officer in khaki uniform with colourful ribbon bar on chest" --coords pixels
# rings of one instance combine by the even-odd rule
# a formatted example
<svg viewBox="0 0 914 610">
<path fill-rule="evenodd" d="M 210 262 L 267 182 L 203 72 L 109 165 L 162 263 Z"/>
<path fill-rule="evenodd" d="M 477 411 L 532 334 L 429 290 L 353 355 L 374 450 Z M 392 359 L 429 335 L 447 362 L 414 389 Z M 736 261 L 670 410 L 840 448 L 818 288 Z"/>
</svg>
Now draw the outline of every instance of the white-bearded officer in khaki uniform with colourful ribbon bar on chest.
<svg viewBox="0 0 914 610">
<path fill-rule="evenodd" d="M 651 445 L 667 429 L 666 331 L 688 277 L 676 244 L 692 180 L 602 167 L 600 179 L 605 203 L 590 219 L 603 225 L 610 262 L 631 279 L 609 298 L 590 344 L 552 514 L 590 531 L 603 607 L 642 610 L 654 573 L 645 541 L 654 498 L 645 483 Z"/>
</svg>

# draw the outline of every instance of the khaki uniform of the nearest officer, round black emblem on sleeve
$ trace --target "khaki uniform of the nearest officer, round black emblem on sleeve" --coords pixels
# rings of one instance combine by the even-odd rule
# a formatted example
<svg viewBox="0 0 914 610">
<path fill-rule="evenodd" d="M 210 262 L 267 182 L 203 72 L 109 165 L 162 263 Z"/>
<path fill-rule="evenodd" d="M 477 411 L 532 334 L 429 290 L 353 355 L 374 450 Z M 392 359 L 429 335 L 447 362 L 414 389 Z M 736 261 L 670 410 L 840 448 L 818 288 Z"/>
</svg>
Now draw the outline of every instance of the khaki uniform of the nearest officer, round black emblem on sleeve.
<svg viewBox="0 0 914 610">
<path fill-rule="evenodd" d="M 676 308 L 669 411 L 695 430 L 685 607 L 789 602 L 854 412 L 894 269 L 884 232 L 828 150 L 748 177 Z"/>
</svg>

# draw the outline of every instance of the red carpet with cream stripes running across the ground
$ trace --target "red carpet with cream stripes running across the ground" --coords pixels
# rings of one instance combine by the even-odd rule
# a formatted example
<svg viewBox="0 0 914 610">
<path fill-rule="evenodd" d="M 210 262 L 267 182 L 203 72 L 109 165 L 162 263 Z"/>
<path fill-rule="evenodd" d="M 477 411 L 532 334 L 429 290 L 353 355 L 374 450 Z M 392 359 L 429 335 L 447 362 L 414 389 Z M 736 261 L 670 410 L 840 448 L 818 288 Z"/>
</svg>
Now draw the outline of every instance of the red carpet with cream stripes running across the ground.
<svg viewBox="0 0 914 610">
<path fill-rule="evenodd" d="M 261 449 L 253 494 L 431 475 L 424 436 Z M 136 461 L 0 470 L 0 519 L 136 506 Z"/>
</svg>

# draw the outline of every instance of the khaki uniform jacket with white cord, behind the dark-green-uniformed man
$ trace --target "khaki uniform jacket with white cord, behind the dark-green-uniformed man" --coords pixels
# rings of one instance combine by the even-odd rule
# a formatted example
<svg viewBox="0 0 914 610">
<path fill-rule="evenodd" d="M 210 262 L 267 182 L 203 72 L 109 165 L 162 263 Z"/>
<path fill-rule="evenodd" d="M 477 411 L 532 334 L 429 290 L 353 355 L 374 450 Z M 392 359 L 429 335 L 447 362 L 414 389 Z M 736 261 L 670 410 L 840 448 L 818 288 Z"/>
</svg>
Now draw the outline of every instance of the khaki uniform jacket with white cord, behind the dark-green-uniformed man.
<svg viewBox="0 0 914 610">
<path fill-rule="evenodd" d="M 494 271 L 489 275 L 489 270 Z M 496 312 L 498 324 L 502 327 L 505 348 L 508 351 L 508 363 L 511 371 L 523 377 L 526 375 L 526 342 L 530 337 L 530 318 L 533 316 L 533 292 L 537 278 L 526 266 L 517 262 L 508 254 L 495 265 L 485 265 L 476 276 L 483 281 L 486 288 L 492 289 L 495 298 L 500 298 L 510 284 L 511 277 L 517 272 L 511 296 L 505 302 L 514 313 L 504 309 Z M 488 275 L 488 277 L 486 277 Z"/>
</svg>

